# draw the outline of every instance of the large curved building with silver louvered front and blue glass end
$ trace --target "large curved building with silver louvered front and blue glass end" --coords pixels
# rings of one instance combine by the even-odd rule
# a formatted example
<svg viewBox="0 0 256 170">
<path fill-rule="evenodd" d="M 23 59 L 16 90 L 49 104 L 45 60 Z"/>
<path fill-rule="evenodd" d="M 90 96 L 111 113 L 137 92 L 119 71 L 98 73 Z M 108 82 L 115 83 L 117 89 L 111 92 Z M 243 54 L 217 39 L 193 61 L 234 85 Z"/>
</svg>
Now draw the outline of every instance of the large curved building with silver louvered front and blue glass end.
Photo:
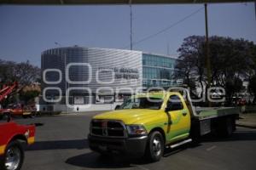
<svg viewBox="0 0 256 170">
<path fill-rule="evenodd" d="M 175 62 L 171 56 L 123 49 L 47 49 L 41 55 L 41 104 L 107 104 L 147 88 L 170 88 Z"/>
</svg>

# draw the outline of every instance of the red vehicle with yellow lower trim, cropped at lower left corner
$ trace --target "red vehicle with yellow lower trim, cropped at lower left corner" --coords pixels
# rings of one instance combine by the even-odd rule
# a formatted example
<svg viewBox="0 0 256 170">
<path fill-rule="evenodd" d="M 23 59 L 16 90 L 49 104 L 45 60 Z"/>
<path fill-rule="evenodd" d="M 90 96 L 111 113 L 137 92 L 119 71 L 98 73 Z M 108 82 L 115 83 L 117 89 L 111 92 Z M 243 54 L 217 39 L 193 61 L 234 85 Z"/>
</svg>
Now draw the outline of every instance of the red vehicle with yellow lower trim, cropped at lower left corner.
<svg viewBox="0 0 256 170">
<path fill-rule="evenodd" d="M 19 170 L 24 160 L 22 142 L 33 144 L 34 125 L 19 125 L 3 116 L 0 120 L 0 169 Z"/>
</svg>

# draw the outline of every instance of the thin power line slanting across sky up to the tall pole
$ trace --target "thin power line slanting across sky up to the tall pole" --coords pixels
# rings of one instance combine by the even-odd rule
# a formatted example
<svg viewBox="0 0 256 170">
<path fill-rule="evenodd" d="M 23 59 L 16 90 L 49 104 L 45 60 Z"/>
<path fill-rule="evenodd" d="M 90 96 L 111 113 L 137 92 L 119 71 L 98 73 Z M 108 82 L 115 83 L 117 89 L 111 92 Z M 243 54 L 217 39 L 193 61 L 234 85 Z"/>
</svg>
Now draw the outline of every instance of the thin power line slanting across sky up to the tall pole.
<svg viewBox="0 0 256 170">
<path fill-rule="evenodd" d="M 179 23 L 183 22 L 184 20 L 189 19 L 189 18 L 190 18 L 191 16 L 193 16 L 194 14 L 199 13 L 199 12 L 201 11 L 201 9 L 203 9 L 203 8 L 204 8 L 204 7 L 197 9 L 195 12 L 193 12 L 193 13 L 191 13 L 191 14 L 185 16 L 182 20 L 178 20 L 177 22 L 173 23 L 171 26 L 166 27 L 165 29 L 162 29 L 162 30 L 160 30 L 160 31 L 158 31 L 158 32 L 156 32 L 156 33 L 154 33 L 154 34 L 151 34 L 151 35 L 149 35 L 148 37 L 144 37 L 144 38 L 142 38 L 141 40 L 139 40 L 139 41 L 137 41 L 137 42 L 133 42 L 132 45 L 134 46 L 135 44 L 144 42 L 144 41 L 146 41 L 146 40 L 148 40 L 148 39 L 150 39 L 150 38 L 152 38 L 152 37 L 155 37 L 155 36 L 157 36 L 157 35 L 159 35 L 159 34 L 165 32 L 165 31 L 170 30 L 173 26 L 177 26 Z M 125 46 L 125 48 L 129 48 L 129 47 L 130 47 L 130 45 L 129 45 L 129 46 Z"/>
</svg>

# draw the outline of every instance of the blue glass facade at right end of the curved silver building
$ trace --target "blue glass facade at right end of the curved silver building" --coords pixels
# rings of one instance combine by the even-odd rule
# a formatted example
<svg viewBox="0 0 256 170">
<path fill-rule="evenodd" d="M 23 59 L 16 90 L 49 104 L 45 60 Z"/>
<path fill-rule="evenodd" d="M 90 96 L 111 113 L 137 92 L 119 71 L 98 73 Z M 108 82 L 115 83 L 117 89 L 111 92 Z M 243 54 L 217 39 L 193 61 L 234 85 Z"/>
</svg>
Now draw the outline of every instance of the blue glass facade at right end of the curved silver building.
<svg viewBox="0 0 256 170">
<path fill-rule="evenodd" d="M 168 88 L 173 81 L 176 59 L 157 54 L 143 54 L 143 87 Z"/>
</svg>

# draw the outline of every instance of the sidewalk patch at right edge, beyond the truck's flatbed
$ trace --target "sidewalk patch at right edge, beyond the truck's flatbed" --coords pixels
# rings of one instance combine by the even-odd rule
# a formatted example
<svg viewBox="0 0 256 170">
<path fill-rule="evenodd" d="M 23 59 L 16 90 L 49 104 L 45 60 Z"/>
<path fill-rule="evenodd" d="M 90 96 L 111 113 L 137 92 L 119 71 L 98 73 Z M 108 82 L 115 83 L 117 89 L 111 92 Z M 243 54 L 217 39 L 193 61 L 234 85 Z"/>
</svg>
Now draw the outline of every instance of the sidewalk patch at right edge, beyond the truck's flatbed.
<svg viewBox="0 0 256 170">
<path fill-rule="evenodd" d="M 256 113 L 241 114 L 240 119 L 236 121 L 236 126 L 256 128 Z"/>
</svg>

